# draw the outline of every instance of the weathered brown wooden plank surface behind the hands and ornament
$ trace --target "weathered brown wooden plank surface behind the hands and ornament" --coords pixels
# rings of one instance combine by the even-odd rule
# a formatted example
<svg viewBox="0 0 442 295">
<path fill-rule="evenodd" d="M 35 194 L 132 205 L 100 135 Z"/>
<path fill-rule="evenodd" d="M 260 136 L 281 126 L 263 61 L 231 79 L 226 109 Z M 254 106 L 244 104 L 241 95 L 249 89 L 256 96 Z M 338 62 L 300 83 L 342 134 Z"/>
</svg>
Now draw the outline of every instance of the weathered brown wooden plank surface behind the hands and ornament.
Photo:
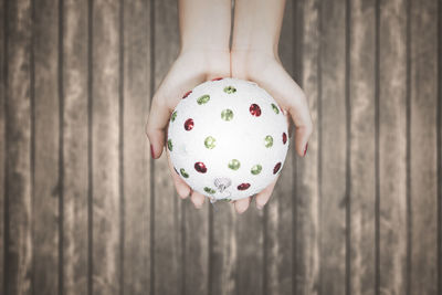
<svg viewBox="0 0 442 295">
<path fill-rule="evenodd" d="M 441 0 L 287 0 L 315 130 L 243 215 L 194 210 L 149 159 L 176 0 L 1 0 L 0 20 L 1 294 L 442 294 Z"/>
</svg>

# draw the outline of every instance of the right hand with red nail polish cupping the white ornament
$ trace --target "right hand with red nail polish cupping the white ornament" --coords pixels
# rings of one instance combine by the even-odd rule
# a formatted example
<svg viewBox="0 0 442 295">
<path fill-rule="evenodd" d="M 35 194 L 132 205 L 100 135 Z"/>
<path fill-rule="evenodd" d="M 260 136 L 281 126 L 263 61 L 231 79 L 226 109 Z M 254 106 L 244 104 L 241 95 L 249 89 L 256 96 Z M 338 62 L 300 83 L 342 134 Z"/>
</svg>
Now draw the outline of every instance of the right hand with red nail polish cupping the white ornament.
<svg viewBox="0 0 442 295">
<path fill-rule="evenodd" d="M 284 70 L 278 56 L 264 50 L 233 50 L 231 52 L 232 77 L 256 82 L 278 103 L 295 124 L 295 149 L 301 157 L 307 151 L 308 138 L 313 130 L 312 117 L 304 92 Z M 292 122 L 288 119 L 290 130 Z M 291 133 L 288 133 L 291 134 Z M 269 201 L 277 178 L 255 196 L 256 208 L 262 209 Z M 239 213 L 248 210 L 251 197 L 234 202 Z"/>
</svg>

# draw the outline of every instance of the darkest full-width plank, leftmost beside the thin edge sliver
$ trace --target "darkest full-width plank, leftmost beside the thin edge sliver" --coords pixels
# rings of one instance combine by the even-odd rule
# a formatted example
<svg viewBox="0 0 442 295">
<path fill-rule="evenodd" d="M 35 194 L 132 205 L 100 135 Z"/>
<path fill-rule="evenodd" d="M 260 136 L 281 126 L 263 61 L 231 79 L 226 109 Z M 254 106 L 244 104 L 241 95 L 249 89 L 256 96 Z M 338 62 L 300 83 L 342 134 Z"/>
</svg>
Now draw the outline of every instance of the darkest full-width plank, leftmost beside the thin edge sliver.
<svg viewBox="0 0 442 295">
<path fill-rule="evenodd" d="M 30 102 L 30 1 L 8 1 L 6 80 L 6 288 L 4 293 L 31 294 L 32 176 Z"/>
</svg>

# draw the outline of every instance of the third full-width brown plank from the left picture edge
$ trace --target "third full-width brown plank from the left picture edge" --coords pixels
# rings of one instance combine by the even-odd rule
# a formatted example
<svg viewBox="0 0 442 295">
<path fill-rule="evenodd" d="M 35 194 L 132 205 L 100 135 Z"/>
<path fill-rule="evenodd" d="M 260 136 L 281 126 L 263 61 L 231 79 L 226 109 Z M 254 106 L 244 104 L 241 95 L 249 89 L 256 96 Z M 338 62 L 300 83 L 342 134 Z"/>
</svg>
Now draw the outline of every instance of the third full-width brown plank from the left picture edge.
<svg viewBox="0 0 442 295">
<path fill-rule="evenodd" d="M 87 2 L 63 1 L 63 294 L 87 294 Z"/>
</svg>

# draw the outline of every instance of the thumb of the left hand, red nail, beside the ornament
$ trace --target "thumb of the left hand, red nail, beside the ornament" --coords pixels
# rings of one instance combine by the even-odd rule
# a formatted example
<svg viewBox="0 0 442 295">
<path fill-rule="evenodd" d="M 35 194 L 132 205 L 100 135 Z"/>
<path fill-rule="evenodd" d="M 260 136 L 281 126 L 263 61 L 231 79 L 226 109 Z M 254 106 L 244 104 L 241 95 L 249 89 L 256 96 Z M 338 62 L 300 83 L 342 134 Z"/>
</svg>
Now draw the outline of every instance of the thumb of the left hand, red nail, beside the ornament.
<svg viewBox="0 0 442 295">
<path fill-rule="evenodd" d="M 146 135 L 150 141 L 150 154 L 154 159 L 158 159 L 162 154 L 170 113 L 171 109 L 167 106 L 166 99 L 156 95 L 146 124 Z"/>
</svg>

